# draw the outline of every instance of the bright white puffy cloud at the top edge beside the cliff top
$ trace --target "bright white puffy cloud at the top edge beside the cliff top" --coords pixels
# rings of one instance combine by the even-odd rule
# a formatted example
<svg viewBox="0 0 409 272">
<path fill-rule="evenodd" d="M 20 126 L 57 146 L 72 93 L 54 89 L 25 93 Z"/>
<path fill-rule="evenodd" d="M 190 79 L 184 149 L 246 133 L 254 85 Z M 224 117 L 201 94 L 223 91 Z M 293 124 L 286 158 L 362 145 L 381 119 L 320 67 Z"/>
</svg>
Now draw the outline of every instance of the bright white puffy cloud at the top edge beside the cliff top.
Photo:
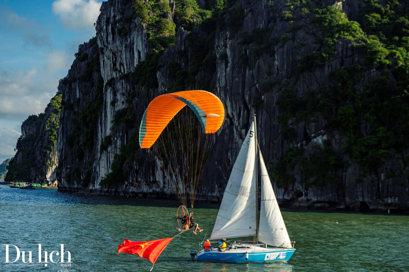
<svg viewBox="0 0 409 272">
<path fill-rule="evenodd" d="M 61 23 L 68 29 L 94 29 L 97 22 L 101 2 L 95 0 L 56 0 L 52 3 L 52 11 L 60 16 Z"/>
</svg>

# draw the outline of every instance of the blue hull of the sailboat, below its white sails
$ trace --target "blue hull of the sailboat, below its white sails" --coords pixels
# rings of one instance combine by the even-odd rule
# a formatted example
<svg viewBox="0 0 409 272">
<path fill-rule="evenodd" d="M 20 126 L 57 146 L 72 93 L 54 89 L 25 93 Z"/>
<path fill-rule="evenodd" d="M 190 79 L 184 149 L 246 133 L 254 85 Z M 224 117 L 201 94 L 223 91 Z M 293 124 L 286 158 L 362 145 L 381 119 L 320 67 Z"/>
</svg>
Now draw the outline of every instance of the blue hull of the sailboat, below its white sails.
<svg viewBox="0 0 409 272">
<path fill-rule="evenodd" d="M 295 249 L 279 249 L 279 248 L 265 248 L 256 247 L 254 249 L 247 250 L 226 250 L 225 252 L 219 252 L 213 250 L 205 252 L 201 250 L 197 255 L 198 261 L 209 261 L 219 263 L 265 263 L 265 262 L 277 262 L 288 261 Z M 245 253 L 248 254 L 248 259 L 245 258 Z"/>
</svg>

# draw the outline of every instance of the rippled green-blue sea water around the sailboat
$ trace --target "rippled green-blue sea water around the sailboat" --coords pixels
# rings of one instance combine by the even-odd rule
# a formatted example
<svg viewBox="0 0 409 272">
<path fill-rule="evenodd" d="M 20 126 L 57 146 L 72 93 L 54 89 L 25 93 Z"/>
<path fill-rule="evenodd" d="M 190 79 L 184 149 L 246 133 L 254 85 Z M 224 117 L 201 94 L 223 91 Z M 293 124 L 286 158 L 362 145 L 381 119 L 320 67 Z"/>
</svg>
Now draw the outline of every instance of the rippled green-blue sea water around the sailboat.
<svg viewBox="0 0 409 272">
<path fill-rule="evenodd" d="M 0 187 L 0 271 L 149 271 L 148 260 L 118 254 L 118 245 L 124 238 L 149 241 L 178 234 L 175 201 Z M 283 212 L 297 249 L 288 263 L 191 262 L 190 250 L 198 251 L 198 244 L 209 237 L 216 215 L 217 205 L 197 203 L 195 222 L 204 231 L 175 237 L 152 271 L 409 271 L 409 217 L 390 214 Z M 64 244 L 71 253 L 71 267 L 36 266 L 38 243 L 48 252 L 60 251 Z M 22 263 L 21 256 L 15 266 L 4 263 L 5 244 L 32 251 L 33 263 Z M 11 247 L 9 259 L 15 258 Z"/>
</svg>

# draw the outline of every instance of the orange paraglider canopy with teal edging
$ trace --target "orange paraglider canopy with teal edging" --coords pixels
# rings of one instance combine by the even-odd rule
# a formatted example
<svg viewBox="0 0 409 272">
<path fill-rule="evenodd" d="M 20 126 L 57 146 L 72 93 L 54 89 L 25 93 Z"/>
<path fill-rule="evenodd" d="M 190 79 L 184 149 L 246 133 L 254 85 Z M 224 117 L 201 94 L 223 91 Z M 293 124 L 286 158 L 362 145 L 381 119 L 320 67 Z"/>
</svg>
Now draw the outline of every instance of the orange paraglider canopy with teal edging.
<svg viewBox="0 0 409 272">
<path fill-rule="evenodd" d="M 145 110 L 139 128 L 139 145 L 151 147 L 166 125 L 188 105 L 199 118 L 205 133 L 216 132 L 225 118 L 225 108 L 220 99 L 208 91 L 178 91 L 154 98 Z"/>
</svg>

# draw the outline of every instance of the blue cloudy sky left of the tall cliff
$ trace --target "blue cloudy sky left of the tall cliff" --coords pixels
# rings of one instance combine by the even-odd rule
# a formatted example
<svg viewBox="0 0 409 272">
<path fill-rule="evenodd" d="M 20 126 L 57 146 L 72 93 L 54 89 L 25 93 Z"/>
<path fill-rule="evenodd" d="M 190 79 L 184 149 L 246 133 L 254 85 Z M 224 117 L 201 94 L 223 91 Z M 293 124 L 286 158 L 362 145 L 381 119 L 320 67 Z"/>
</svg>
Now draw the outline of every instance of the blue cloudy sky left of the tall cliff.
<svg viewBox="0 0 409 272">
<path fill-rule="evenodd" d="M 0 0 L 0 164 L 21 124 L 44 112 L 78 46 L 95 36 L 101 0 Z"/>
</svg>

